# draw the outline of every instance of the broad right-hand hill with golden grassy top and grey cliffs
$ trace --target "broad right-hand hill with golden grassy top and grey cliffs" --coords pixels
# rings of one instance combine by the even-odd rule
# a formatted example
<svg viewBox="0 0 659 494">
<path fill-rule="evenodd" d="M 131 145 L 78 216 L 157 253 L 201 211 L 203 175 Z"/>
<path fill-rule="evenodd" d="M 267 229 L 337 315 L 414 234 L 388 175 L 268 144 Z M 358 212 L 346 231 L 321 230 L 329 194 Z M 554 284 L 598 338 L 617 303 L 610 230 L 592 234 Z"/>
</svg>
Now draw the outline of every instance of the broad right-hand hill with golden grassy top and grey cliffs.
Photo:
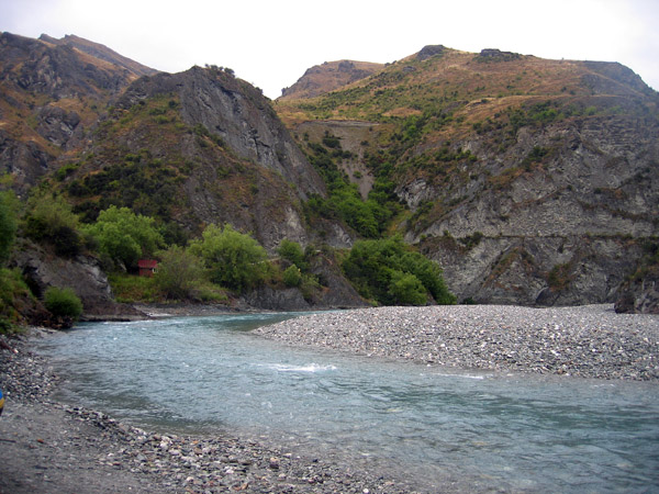
<svg viewBox="0 0 659 494">
<path fill-rule="evenodd" d="M 362 194 L 394 184 L 390 231 L 460 300 L 552 305 L 616 300 L 656 242 L 658 103 L 619 64 L 437 45 L 276 109 L 309 153 L 345 144 Z"/>
</svg>

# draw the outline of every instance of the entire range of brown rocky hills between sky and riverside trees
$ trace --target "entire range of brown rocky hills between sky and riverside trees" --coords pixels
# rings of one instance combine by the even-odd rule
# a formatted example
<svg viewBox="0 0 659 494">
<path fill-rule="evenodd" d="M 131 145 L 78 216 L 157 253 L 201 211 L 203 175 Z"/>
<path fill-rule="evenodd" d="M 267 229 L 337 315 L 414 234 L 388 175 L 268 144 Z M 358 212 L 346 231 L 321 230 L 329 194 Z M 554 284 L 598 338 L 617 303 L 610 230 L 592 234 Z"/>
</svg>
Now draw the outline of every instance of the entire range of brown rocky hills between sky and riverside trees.
<svg viewBox="0 0 659 494">
<path fill-rule="evenodd" d="M 0 35 L 0 165 L 86 221 L 227 222 L 270 252 L 400 234 L 460 301 L 524 305 L 614 302 L 656 244 L 659 94 L 619 64 L 428 45 L 269 102 L 228 69 L 137 77 L 74 41 Z"/>
</svg>

